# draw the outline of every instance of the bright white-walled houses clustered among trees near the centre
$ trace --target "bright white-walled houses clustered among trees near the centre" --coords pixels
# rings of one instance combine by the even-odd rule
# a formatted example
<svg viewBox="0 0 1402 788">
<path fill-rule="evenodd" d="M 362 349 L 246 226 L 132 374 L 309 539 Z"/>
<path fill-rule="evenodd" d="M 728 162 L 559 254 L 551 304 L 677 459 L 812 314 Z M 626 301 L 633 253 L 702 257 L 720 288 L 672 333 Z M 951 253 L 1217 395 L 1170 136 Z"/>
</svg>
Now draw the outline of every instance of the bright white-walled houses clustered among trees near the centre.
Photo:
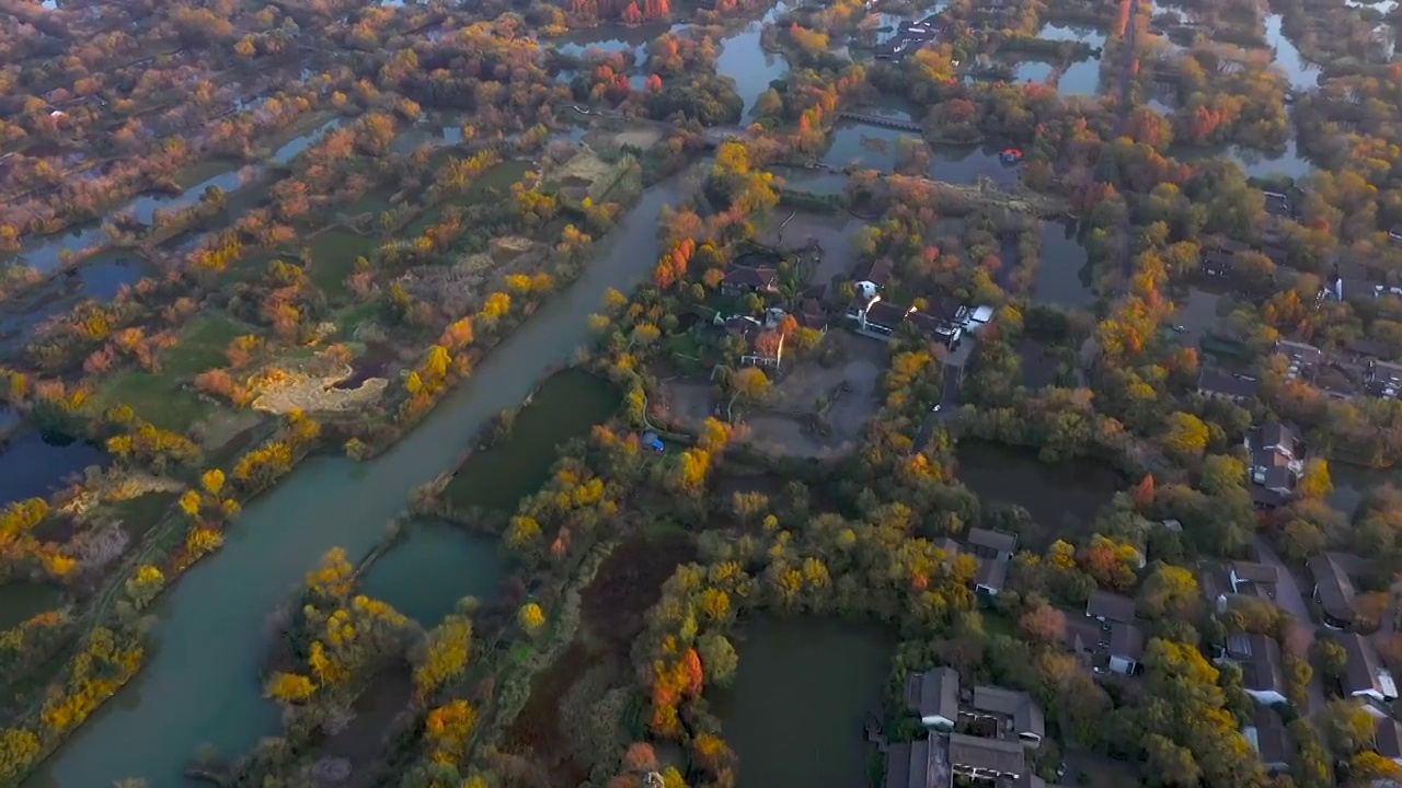
<svg viewBox="0 0 1402 788">
<path fill-rule="evenodd" d="M 924 308 L 892 300 L 886 290 L 892 268 L 892 261 L 882 258 L 862 264 L 852 275 L 857 297 L 847 308 L 847 318 L 857 322 L 859 334 L 890 339 L 901 325 L 908 325 L 949 348 L 958 348 L 965 334 L 993 318 L 993 307 L 969 308 L 951 297 L 938 299 Z"/>
</svg>

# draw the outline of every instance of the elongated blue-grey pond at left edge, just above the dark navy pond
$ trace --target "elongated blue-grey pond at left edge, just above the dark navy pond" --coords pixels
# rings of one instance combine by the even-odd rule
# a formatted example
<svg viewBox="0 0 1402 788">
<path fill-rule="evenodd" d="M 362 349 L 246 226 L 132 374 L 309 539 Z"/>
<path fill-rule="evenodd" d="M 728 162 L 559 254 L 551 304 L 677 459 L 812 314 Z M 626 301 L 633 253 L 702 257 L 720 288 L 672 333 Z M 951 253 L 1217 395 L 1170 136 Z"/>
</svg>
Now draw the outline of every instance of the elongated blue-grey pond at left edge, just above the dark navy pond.
<svg viewBox="0 0 1402 788">
<path fill-rule="evenodd" d="M 151 271 L 135 254 L 104 252 L 41 282 L 0 311 L 0 353 L 17 351 L 45 320 L 67 314 L 84 299 L 111 300 L 122 285 L 135 285 Z"/>
</svg>

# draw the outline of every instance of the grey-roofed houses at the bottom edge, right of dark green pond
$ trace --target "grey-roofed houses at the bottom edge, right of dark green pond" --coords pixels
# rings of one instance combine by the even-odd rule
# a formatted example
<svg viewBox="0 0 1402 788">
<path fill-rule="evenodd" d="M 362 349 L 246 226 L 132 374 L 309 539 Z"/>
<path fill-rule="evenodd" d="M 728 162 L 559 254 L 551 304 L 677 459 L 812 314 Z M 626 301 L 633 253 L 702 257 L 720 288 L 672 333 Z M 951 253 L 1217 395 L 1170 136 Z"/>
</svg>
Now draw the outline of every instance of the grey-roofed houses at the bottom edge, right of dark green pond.
<svg viewBox="0 0 1402 788">
<path fill-rule="evenodd" d="M 906 704 L 928 739 L 892 745 L 887 788 L 948 788 L 955 775 L 997 788 L 1046 788 L 1033 759 L 1046 736 L 1042 707 L 1021 690 L 960 686 L 959 672 L 935 667 L 906 683 Z"/>
</svg>

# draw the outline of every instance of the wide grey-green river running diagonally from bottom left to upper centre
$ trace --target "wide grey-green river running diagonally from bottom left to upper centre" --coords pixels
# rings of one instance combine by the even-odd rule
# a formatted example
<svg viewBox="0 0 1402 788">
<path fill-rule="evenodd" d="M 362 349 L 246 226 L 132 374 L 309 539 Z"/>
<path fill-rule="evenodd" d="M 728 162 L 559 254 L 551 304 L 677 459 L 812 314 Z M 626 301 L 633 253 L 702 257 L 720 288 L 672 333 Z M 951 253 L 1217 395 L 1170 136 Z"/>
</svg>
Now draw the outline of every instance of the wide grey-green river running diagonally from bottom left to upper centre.
<svg viewBox="0 0 1402 788">
<path fill-rule="evenodd" d="M 223 550 L 156 606 L 156 646 L 146 669 L 29 785 L 98 787 L 144 777 L 150 788 L 177 788 L 200 745 L 238 754 L 275 733 L 279 711 L 258 683 L 264 618 L 331 547 L 352 555 L 370 550 L 414 488 L 451 467 L 498 411 L 519 405 L 547 372 L 571 359 L 604 292 L 631 290 L 651 272 L 659 210 L 681 196 L 674 182 L 648 189 L 573 287 L 519 327 L 391 450 L 369 463 L 310 458 L 251 502 Z"/>
</svg>

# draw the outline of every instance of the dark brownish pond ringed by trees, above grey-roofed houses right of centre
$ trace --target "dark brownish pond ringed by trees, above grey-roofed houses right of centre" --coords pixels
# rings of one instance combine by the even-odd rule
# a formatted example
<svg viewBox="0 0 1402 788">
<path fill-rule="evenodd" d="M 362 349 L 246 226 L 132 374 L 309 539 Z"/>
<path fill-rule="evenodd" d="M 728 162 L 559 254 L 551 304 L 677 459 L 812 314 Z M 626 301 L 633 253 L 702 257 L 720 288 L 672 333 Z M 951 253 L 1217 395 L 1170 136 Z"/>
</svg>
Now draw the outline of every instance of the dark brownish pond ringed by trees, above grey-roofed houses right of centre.
<svg viewBox="0 0 1402 788">
<path fill-rule="evenodd" d="M 1123 487 L 1120 474 L 1095 460 L 1047 464 L 1037 450 L 988 440 L 960 440 L 956 475 L 984 506 L 1016 503 L 1039 526 L 1037 543 L 1088 526 Z M 1040 547 L 1040 544 L 1035 545 Z"/>
</svg>

